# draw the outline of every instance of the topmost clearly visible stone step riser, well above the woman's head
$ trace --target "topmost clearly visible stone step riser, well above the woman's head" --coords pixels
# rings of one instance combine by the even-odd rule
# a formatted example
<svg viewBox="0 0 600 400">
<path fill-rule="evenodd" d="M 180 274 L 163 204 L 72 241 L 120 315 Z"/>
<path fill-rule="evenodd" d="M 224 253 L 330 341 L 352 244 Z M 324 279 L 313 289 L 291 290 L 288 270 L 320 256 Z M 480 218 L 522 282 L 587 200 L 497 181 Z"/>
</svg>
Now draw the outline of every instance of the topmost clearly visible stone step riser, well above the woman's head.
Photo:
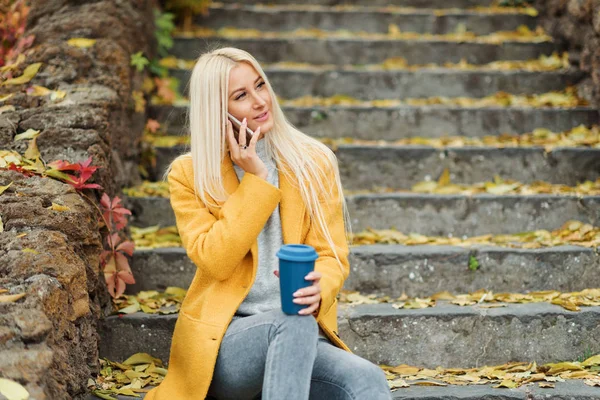
<svg viewBox="0 0 600 400">
<path fill-rule="evenodd" d="M 213 29 L 223 26 L 256 29 L 256 21 L 260 21 L 260 30 L 269 32 L 310 27 L 325 31 L 344 29 L 387 33 L 388 26 L 395 24 L 403 32 L 445 34 L 466 29 L 477 35 L 485 35 L 516 30 L 520 25 L 532 30 L 536 26 L 536 18 L 530 15 L 475 10 L 448 10 L 440 15 L 432 9 L 382 10 L 360 7 L 336 10 L 300 5 L 256 7 L 251 4 L 213 5 L 206 16 L 199 14 L 194 20 L 199 26 Z"/>
</svg>

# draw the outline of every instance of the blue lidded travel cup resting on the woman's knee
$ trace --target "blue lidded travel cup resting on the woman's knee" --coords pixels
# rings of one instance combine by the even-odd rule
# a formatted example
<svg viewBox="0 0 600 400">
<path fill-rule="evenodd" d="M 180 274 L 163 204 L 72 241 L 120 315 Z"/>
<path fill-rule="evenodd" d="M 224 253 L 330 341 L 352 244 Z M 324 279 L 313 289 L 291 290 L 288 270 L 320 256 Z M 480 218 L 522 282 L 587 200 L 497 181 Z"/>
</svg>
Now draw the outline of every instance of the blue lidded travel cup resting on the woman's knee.
<svg viewBox="0 0 600 400">
<path fill-rule="evenodd" d="M 286 314 L 297 315 L 298 311 L 308 306 L 294 303 L 294 292 L 312 285 L 313 281 L 306 280 L 304 277 L 315 269 L 315 260 L 319 255 L 312 246 L 285 244 L 277 252 L 277 257 L 279 257 L 281 309 Z"/>
</svg>

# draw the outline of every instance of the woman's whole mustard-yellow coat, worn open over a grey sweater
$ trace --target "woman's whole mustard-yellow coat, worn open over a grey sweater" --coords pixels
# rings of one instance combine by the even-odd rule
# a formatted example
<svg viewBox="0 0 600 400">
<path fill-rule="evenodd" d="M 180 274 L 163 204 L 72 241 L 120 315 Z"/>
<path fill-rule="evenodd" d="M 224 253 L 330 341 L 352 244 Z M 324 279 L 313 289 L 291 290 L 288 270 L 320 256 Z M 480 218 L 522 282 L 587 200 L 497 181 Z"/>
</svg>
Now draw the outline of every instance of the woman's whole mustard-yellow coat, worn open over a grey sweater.
<svg viewBox="0 0 600 400">
<path fill-rule="evenodd" d="M 146 400 L 206 397 L 221 339 L 256 276 L 258 235 L 277 204 L 284 243 L 308 244 L 319 254 L 315 269 L 323 277 L 317 322 L 334 345 L 350 351 L 337 336 L 336 296 L 349 273 L 349 249 L 339 194 L 336 192 L 336 198 L 327 199 L 334 205 L 329 210 L 323 203 L 323 211 L 343 272 L 327 241 L 311 225 L 299 190 L 282 171 L 279 188 L 250 173 L 239 181 L 228 155 L 221 171 L 225 189 L 230 193 L 229 199 L 221 203 L 224 204 L 221 209 L 206 207 L 196 198 L 191 158 L 177 161 L 169 174 L 177 228 L 188 256 L 198 269 L 175 325 L 168 374 L 158 387 L 148 392 Z M 328 172 L 333 177 L 331 166 Z"/>
</svg>

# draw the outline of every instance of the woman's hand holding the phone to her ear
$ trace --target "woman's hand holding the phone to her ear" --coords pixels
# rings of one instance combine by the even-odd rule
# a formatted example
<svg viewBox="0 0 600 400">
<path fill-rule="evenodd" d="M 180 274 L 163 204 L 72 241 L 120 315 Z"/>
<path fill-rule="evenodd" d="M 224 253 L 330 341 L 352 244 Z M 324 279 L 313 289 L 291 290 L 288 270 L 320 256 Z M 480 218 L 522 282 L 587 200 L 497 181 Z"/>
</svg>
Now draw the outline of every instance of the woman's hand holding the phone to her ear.
<svg viewBox="0 0 600 400">
<path fill-rule="evenodd" d="M 246 132 L 246 118 L 242 121 L 240 132 Z M 248 148 L 242 149 L 246 145 L 246 135 L 238 135 L 239 143 L 235 140 L 233 134 L 233 125 L 230 120 L 227 120 L 227 140 L 229 142 L 229 152 L 231 159 L 245 172 L 254 174 L 262 179 L 267 179 L 267 167 L 265 163 L 256 154 L 256 142 L 260 139 L 260 126 L 254 132 L 252 140 L 248 143 Z"/>
</svg>

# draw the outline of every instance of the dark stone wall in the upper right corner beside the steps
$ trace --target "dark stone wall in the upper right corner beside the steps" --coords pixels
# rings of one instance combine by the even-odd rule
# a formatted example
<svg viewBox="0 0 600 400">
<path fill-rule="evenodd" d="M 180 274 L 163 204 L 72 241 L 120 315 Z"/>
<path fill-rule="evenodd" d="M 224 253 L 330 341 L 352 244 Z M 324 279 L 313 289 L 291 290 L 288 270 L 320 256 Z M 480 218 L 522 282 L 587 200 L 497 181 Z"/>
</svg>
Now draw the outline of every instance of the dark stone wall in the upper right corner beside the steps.
<svg viewBox="0 0 600 400">
<path fill-rule="evenodd" d="M 580 93 L 600 106 L 600 0 L 535 0 L 541 25 L 590 74 Z"/>
</svg>

